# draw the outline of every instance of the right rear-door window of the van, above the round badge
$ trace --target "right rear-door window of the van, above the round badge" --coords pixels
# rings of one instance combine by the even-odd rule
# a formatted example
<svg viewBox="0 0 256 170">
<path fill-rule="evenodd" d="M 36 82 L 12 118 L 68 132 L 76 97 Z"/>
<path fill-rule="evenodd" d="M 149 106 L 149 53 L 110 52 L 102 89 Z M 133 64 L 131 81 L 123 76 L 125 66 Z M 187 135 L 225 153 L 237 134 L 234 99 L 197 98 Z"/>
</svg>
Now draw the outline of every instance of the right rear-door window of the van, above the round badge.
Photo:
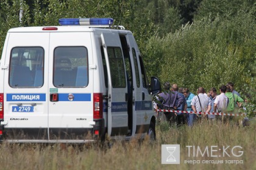
<svg viewBox="0 0 256 170">
<path fill-rule="evenodd" d="M 88 85 L 88 55 L 85 47 L 54 49 L 55 87 L 86 87 Z"/>
</svg>

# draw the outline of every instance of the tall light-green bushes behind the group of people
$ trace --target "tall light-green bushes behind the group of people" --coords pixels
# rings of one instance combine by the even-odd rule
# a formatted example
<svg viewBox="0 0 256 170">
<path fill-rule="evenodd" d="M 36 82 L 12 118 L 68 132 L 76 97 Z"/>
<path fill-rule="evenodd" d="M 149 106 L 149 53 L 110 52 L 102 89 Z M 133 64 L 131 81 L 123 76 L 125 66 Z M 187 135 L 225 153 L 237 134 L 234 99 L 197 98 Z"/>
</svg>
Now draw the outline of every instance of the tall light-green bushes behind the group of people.
<svg viewBox="0 0 256 170">
<path fill-rule="evenodd" d="M 164 38 L 149 39 L 148 48 L 155 43 L 158 48 L 148 53 L 147 61 L 159 59 L 157 77 L 189 87 L 219 88 L 229 81 L 235 83 L 243 98 L 255 103 L 255 8 L 238 10 L 232 16 L 205 16 L 193 24 L 186 24 Z M 151 64 L 147 63 L 148 66 Z"/>
</svg>

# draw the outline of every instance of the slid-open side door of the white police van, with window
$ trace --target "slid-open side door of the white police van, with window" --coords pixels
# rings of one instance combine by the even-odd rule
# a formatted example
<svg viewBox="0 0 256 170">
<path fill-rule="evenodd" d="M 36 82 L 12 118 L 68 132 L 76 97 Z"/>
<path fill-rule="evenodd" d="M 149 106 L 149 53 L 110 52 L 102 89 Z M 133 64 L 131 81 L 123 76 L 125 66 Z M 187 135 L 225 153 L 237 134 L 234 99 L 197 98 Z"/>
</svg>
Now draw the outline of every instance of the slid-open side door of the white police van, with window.
<svg viewBox="0 0 256 170">
<path fill-rule="evenodd" d="M 118 34 L 102 33 L 108 75 L 108 135 L 127 135 L 126 70 Z"/>
</svg>

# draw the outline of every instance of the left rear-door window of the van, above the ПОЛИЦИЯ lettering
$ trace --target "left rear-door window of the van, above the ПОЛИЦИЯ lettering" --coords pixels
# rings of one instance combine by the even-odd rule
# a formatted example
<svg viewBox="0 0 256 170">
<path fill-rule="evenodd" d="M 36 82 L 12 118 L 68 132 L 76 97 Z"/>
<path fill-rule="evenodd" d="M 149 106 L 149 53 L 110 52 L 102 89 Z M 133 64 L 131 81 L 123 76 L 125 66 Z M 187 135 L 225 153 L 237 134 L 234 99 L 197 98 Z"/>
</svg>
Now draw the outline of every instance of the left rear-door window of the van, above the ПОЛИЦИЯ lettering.
<svg viewBox="0 0 256 170">
<path fill-rule="evenodd" d="M 10 56 L 9 85 L 13 88 L 43 86 L 42 47 L 15 47 Z"/>
</svg>

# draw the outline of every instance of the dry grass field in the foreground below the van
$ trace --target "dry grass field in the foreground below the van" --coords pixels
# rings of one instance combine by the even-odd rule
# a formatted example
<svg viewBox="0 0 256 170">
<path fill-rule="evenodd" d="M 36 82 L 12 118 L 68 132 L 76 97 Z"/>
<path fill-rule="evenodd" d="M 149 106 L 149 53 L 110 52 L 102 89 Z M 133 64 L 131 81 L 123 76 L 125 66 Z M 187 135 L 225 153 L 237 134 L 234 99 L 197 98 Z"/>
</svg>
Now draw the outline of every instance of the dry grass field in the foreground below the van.
<svg viewBox="0 0 256 170">
<path fill-rule="evenodd" d="M 7 144 L 0 145 L 0 169 L 256 169 L 256 124 L 240 127 L 220 122 L 204 122 L 190 128 L 169 127 L 157 123 L 157 141 L 115 141 L 112 147 L 97 144 L 65 145 L 54 144 Z M 180 144 L 180 165 L 162 165 L 162 144 Z M 227 148 L 227 154 L 214 152 L 221 157 L 188 157 L 186 146 L 199 146 L 203 151 L 208 146 Z M 231 149 L 241 146 L 243 155 L 235 157 Z M 237 148 L 234 149 L 238 155 Z M 230 155 L 230 157 L 228 156 Z M 198 164 L 184 163 L 184 160 L 201 161 Z M 224 163 L 202 163 L 205 160 L 223 160 Z M 231 160 L 243 160 L 241 164 Z M 228 163 L 225 163 L 228 161 Z"/>
</svg>

